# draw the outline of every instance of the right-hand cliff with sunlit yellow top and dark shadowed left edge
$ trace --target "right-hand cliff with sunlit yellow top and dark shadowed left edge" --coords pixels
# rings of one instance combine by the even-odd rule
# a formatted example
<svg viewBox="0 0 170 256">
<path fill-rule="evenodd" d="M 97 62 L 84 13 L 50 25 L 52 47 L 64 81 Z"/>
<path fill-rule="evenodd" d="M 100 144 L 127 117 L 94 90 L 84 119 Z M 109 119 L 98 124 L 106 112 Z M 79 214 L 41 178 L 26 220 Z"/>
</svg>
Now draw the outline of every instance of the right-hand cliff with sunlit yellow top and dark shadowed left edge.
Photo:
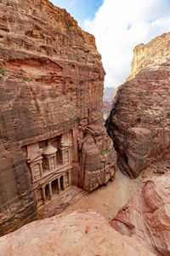
<svg viewBox="0 0 170 256">
<path fill-rule="evenodd" d="M 170 33 L 134 49 L 132 74 L 114 98 L 107 130 L 122 172 L 137 177 L 169 153 Z"/>
</svg>

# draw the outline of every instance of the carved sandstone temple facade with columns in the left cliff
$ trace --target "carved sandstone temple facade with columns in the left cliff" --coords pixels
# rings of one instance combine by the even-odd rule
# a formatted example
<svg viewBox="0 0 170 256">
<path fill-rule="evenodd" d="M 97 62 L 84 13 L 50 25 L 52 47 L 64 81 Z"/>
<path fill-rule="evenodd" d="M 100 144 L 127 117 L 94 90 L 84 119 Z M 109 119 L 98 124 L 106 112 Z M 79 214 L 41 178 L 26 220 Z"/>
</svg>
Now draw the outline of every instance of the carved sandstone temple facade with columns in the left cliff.
<svg viewBox="0 0 170 256">
<path fill-rule="evenodd" d="M 22 148 L 37 207 L 72 184 L 71 132 Z"/>
</svg>

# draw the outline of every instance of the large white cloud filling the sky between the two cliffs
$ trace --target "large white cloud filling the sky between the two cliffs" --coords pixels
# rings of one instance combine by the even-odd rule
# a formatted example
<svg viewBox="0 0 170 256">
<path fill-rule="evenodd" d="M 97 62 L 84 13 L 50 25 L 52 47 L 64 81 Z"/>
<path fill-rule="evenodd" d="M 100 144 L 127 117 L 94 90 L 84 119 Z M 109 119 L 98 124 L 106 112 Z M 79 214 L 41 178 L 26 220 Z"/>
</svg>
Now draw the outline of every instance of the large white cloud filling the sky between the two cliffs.
<svg viewBox="0 0 170 256">
<path fill-rule="evenodd" d="M 170 1 L 104 0 L 84 29 L 96 38 L 107 73 L 105 86 L 116 87 L 130 74 L 134 46 L 170 31 Z"/>
</svg>

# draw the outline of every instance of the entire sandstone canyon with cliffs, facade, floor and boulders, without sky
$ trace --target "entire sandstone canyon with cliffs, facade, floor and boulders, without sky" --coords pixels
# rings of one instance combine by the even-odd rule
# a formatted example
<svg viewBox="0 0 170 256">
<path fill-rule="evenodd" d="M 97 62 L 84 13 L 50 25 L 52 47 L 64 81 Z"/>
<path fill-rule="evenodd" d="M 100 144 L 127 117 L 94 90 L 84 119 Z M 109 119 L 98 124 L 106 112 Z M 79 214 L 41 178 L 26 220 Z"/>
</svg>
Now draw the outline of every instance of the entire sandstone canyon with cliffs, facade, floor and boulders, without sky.
<svg viewBox="0 0 170 256">
<path fill-rule="evenodd" d="M 93 35 L 48 0 L 0 1 L 2 256 L 170 255 L 169 46 L 134 48 L 111 107 Z"/>
</svg>

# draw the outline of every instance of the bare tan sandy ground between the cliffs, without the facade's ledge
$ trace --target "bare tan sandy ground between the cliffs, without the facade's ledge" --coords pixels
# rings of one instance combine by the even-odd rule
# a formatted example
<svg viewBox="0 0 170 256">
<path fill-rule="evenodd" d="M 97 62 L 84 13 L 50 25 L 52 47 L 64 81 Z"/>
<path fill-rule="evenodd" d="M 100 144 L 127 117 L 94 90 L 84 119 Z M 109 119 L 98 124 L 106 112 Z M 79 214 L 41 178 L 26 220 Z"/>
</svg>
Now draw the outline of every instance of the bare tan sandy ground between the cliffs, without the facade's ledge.
<svg viewBox="0 0 170 256">
<path fill-rule="evenodd" d="M 130 179 L 122 174 L 120 170 L 116 172 L 113 182 L 96 189 L 92 194 L 85 195 L 74 205 L 65 209 L 65 212 L 77 209 L 93 209 L 100 212 L 106 219 L 110 220 L 116 216 L 118 210 L 123 207 L 129 198 L 142 187 L 142 177 Z"/>
</svg>

